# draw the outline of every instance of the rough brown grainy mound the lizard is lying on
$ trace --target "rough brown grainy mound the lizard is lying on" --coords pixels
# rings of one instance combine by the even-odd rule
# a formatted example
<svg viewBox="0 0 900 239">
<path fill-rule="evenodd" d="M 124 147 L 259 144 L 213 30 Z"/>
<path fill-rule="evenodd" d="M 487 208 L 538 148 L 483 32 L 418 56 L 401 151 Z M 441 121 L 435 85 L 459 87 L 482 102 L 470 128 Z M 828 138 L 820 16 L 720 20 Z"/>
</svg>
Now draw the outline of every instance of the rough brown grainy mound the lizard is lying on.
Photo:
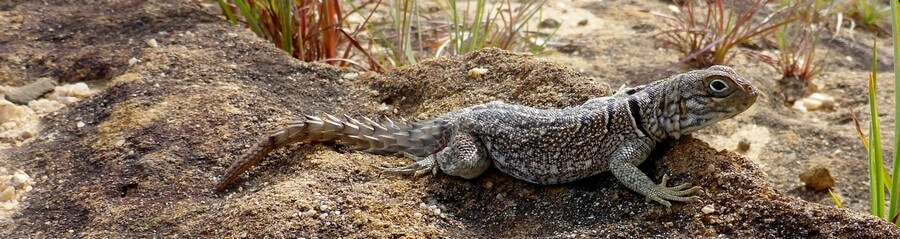
<svg viewBox="0 0 900 239">
<path fill-rule="evenodd" d="M 80 3 L 0 8 L 25 19 L 105 26 L 83 28 L 75 36 L 84 37 L 66 44 L 93 44 L 88 36 L 148 38 L 148 31 L 158 42 L 94 45 L 121 67 L 98 76 L 105 89 L 47 116 L 35 140 L 0 152 L 0 166 L 21 169 L 36 182 L 0 235 L 900 237 L 877 218 L 784 196 L 749 161 L 690 137 L 660 146 L 642 166 L 654 181 L 669 174 L 673 183 L 705 189 L 702 202 L 670 209 L 645 202 L 609 173 L 558 186 L 493 169 L 474 180 L 411 179 L 370 167 L 404 159 L 318 144 L 278 150 L 239 187 L 215 193 L 217 177 L 261 132 L 303 114 L 429 117 L 491 100 L 560 107 L 607 95 L 609 87 L 566 66 L 498 50 L 354 78 L 346 69 L 293 60 L 191 4 L 112 2 L 116 11 L 89 19 L 84 16 L 96 9 Z M 172 13 L 182 17 L 163 20 Z M 160 25 L 136 27 L 142 22 Z M 38 39 L 57 34 L 35 30 L 49 26 L 41 24 L 21 27 Z M 52 55 L 52 47 L 17 39 L 0 35 L 10 43 L 4 49 Z M 130 58 L 140 62 L 118 61 Z M 3 61 L 0 68 L 19 64 Z M 54 67 L 66 66 L 47 66 L 60 72 Z M 488 72 L 470 76 L 476 67 Z M 701 210 L 707 206 L 714 210 Z"/>
</svg>

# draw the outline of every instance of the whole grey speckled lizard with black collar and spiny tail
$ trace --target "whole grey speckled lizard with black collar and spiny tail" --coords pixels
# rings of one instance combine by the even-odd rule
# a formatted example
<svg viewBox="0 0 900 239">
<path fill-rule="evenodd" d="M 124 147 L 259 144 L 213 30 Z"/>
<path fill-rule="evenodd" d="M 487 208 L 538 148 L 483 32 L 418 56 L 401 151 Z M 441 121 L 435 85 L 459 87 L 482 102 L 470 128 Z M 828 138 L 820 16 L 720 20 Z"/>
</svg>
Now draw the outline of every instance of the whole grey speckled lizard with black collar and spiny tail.
<svg viewBox="0 0 900 239">
<path fill-rule="evenodd" d="M 666 186 L 668 175 L 656 184 L 637 166 L 657 143 L 734 117 L 757 96 L 756 88 L 732 68 L 711 66 L 560 109 L 494 101 L 424 121 L 305 115 L 264 136 L 232 163 L 216 189 L 224 191 L 279 147 L 336 142 L 414 160 L 402 167 L 378 167 L 386 173 L 418 176 L 440 171 L 472 179 L 493 165 L 512 177 L 551 185 L 611 171 L 647 201 L 669 207 L 670 201 L 698 200 L 691 195 L 701 188 L 689 183 Z"/>
</svg>

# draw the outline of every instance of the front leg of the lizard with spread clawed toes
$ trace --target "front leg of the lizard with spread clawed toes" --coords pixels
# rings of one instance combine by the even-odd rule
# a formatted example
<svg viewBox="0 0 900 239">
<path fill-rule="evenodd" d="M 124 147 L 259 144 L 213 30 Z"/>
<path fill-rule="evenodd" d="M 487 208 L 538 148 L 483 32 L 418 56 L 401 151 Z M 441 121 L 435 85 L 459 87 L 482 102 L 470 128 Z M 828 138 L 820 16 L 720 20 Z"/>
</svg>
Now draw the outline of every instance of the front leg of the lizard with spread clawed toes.
<svg viewBox="0 0 900 239">
<path fill-rule="evenodd" d="M 646 174 L 637 168 L 636 165 L 650 155 L 652 148 L 652 143 L 644 140 L 625 142 L 610 158 L 610 171 L 625 187 L 644 195 L 648 201 L 653 200 L 666 207 L 672 206 L 669 201 L 691 202 L 700 199 L 697 196 L 688 196 L 700 190 L 700 187 L 691 187 L 688 183 L 667 187 L 667 176 L 663 176 L 660 184 L 654 184 Z"/>
</svg>

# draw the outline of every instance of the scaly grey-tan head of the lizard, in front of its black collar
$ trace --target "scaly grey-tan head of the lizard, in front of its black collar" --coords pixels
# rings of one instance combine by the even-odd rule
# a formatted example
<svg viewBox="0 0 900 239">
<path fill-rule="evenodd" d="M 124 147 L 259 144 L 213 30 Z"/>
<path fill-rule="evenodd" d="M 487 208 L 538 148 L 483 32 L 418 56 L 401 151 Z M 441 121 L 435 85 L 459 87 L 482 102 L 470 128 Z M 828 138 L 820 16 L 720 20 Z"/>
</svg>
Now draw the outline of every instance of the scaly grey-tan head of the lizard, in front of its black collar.
<svg viewBox="0 0 900 239">
<path fill-rule="evenodd" d="M 750 108 L 759 95 L 756 88 L 727 66 L 712 66 L 676 75 L 676 94 L 668 94 L 665 114 L 672 137 L 697 131 Z"/>
</svg>

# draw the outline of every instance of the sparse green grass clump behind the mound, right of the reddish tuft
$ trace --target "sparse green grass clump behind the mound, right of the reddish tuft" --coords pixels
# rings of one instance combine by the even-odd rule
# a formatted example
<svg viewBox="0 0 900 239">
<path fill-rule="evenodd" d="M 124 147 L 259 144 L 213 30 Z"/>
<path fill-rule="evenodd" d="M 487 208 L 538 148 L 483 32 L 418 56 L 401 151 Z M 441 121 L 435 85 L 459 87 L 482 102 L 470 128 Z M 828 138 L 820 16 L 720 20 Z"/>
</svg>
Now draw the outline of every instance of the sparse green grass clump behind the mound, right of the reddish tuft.
<svg viewBox="0 0 900 239">
<path fill-rule="evenodd" d="M 380 0 L 378 1 L 381 2 Z M 369 22 L 372 45 L 385 49 L 380 61 L 383 65 L 399 67 L 415 64 L 424 57 L 463 55 L 487 47 L 509 51 L 544 54 L 547 42 L 555 36 L 538 33 L 536 26 L 542 17 L 546 0 L 436 1 L 442 21 L 424 21 L 418 1 L 385 0 L 389 7 L 385 23 Z M 363 16 L 365 9 L 346 1 L 354 12 Z M 369 10 L 375 11 L 375 10 Z M 537 18 L 537 21 L 532 21 Z M 534 23 L 534 24 L 532 24 Z M 394 34 L 385 34 L 390 28 Z"/>
</svg>

